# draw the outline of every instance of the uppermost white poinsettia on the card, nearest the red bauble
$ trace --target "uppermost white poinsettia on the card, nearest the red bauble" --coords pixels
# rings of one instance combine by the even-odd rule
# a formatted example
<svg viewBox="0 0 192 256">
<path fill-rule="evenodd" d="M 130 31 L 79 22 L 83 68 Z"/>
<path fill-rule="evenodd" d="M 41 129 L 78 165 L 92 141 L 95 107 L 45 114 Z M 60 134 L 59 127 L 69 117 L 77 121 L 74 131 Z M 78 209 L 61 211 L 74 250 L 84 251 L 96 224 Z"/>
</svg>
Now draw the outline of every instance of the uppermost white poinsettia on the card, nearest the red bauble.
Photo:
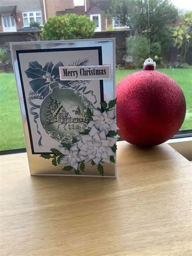
<svg viewBox="0 0 192 256">
<path fill-rule="evenodd" d="M 92 128 L 96 127 L 99 131 L 105 131 L 105 135 L 111 131 L 115 131 L 119 129 L 116 124 L 116 120 L 113 119 L 115 117 L 115 108 L 104 111 L 103 113 L 94 108 L 92 118 L 93 120 L 88 123 L 87 127 Z"/>
</svg>

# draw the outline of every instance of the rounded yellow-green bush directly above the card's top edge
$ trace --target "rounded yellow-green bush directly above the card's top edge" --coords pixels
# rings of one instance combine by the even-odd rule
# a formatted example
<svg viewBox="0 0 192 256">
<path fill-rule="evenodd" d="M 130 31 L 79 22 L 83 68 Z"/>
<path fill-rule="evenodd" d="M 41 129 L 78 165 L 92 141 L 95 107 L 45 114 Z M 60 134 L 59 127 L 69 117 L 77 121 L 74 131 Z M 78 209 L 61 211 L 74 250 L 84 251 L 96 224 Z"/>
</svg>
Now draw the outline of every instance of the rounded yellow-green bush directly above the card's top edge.
<svg viewBox="0 0 192 256">
<path fill-rule="evenodd" d="M 95 23 L 85 15 L 53 16 L 42 28 L 42 37 L 44 40 L 87 39 L 93 37 L 95 28 Z"/>
</svg>

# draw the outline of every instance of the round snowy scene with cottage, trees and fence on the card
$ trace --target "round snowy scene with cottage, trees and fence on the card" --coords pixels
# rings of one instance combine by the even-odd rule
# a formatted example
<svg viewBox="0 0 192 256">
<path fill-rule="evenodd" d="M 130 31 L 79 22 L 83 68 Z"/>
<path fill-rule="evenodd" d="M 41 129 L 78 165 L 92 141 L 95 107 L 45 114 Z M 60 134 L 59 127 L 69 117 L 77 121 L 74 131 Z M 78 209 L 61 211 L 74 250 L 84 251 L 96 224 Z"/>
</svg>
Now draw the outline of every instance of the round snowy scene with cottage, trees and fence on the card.
<svg viewBox="0 0 192 256">
<path fill-rule="evenodd" d="M 43 128 L 56 140 L 62 140 L 64 134 L 72 136 L 83 131 L 89 122 L 86 110 L 81 113 L 79 105 L 74 105 L 64 100 L 58 101 L 49 97 L 44 110 L 42 121 Z"/>
</svg>

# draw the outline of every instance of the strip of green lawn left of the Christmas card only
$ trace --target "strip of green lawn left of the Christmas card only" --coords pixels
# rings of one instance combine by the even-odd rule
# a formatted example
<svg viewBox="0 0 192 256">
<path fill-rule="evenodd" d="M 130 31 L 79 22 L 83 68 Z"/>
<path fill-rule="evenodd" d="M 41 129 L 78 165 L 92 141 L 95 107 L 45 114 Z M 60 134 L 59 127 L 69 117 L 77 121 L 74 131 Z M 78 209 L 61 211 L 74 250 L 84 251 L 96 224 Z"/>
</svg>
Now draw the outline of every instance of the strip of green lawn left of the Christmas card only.
<svg viewBox="0 0 192 256">
<path fill-rule="evenodd" d="M 25 148 L 14 74 L 0 73 L 0 150 Z"/>
</svg>

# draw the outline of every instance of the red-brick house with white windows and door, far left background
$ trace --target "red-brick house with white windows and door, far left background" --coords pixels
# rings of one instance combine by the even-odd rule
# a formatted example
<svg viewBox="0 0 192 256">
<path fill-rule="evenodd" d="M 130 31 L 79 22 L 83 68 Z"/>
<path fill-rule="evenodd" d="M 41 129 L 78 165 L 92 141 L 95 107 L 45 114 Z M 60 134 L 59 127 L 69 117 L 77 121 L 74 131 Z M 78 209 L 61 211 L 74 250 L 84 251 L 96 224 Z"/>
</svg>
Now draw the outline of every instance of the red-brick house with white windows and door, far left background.
<svg viewBox="0 0 192 256">
<path fill-rule="evenodd" d="M 17 32 L 29 28 L 31 22 L 45 24 L 43 0 L 0 1 L 0 32 Z"/>
</svg>

